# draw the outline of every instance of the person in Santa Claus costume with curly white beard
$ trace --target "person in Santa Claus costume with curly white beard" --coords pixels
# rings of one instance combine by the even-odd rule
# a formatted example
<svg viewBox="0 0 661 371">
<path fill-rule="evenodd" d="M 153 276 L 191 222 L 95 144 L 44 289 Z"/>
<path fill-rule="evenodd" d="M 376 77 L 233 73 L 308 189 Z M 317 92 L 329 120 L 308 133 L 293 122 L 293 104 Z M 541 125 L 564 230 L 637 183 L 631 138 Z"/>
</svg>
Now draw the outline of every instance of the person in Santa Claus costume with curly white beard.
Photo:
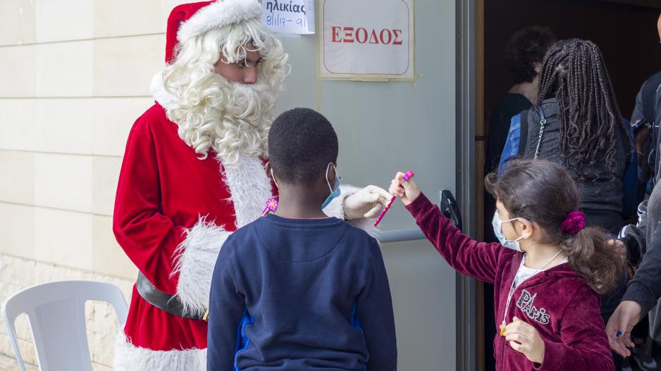
<svg viewBox="0 0 661 371">
<path fill-rule="evenodd" d="M 256 0 L 205 1 L 168 18 L 156 103 L 131 129 L 117 187 L 113 231 L 140 270 L 117 371 L 206 369 L 216 256 L 276 193 L 266 138 L 288 56 L 260 13 Z M 345 186 L 324 211 L 370 225 L 389 199 Z"/>
</svg>

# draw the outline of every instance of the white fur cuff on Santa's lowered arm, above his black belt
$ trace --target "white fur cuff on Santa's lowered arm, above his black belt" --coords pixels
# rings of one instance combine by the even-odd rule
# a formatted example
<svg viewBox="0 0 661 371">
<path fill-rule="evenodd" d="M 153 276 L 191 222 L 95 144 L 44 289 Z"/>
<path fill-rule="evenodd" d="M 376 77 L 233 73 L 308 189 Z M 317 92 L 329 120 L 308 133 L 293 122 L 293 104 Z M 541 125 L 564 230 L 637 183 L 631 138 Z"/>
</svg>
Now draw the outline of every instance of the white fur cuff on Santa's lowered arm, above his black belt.
<svg viewBox="0 0 661 371">
<path fill-rule="evenodd" d="M 209 308 L 211 276 L 214 275 L 218 253 L 232 232 L 213 222 L 206 222 L 203 217 L 186 233 L 186 239 L 175 251 L 172 274 L 179 274 L 177 295 L 181 299 L 183 312 L 202 315 Z"/>
</svg>

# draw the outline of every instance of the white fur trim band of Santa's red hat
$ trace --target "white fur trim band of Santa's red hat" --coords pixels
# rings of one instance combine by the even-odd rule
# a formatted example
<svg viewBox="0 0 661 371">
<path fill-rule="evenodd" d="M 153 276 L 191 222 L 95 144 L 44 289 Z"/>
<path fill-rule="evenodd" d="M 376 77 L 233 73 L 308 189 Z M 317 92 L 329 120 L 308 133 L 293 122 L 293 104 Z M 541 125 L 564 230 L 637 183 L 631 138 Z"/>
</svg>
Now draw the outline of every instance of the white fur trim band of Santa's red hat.
<svg viewBox="0 0 661 371">
<path fill-rule="evenodd" d="M 203 34 L 214 28 L 259 18 L 261 5 L 256 0 L 218 0 L 199 9 L 182 23 L 177 32 L 179 42 Z"/>
</svg>

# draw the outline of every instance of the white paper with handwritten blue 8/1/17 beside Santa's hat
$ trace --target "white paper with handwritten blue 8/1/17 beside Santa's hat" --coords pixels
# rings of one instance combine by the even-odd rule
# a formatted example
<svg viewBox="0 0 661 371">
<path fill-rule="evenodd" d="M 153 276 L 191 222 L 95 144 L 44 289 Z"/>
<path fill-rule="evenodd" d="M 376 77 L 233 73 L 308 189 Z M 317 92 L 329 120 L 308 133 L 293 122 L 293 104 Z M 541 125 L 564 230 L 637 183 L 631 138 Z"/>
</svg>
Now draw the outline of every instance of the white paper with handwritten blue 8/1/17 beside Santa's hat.
<svg viewBox="0 0 661 371">
<path fill-rule="evenodd" d="M 314 0 L 262 0 L 261 22 L 273 32 L 314 34 Z"/>
</svg>

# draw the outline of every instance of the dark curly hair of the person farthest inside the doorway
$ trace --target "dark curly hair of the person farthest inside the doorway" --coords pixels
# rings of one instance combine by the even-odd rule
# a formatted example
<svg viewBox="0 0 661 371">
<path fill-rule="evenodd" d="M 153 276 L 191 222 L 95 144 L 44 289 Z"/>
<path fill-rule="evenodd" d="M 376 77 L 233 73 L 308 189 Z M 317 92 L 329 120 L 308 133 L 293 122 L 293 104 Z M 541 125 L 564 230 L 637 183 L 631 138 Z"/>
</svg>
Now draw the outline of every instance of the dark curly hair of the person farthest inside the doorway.
<svg viewBox="0 0 661 371">
<path fill-rule="evenodd" d="M 505 64 L 514 84 L 533 81 L 537 75 L 535 63 L 542 63 L 546 52 L 556 41 L 550 28 L 540 26 L 526 27 L 507 40 Z"/>
</svg>

